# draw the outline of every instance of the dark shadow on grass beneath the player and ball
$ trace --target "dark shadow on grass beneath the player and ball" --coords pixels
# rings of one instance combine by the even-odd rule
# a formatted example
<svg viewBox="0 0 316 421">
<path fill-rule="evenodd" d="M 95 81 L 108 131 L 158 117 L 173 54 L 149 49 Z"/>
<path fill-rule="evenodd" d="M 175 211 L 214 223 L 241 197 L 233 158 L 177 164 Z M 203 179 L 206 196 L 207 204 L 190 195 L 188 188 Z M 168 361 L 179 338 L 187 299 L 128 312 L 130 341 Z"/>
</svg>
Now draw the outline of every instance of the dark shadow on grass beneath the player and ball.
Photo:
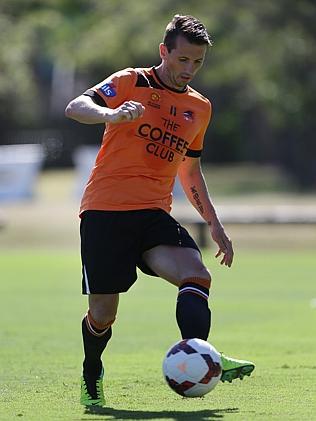
<svg viewBox="0 0 316 421">
<path fill-rule="evenodd" d="M 92 407 L 86 408 L 86 415 L 107 415 L 102 419 L 117 419 L 117 420 L 190 420 L 190 421 L 207 421 L 213 419 L 223 418 L 225 414 L 237 414 L 238 408 L 224 408 L 224 409 L 205 409 L 203 411 L 131 411 L 114 409 L 108 407 Z M 111 418 L 108 418 L 108 417 Z M 83 418 L 88 419 L 88 418 Z"/>
</svg>

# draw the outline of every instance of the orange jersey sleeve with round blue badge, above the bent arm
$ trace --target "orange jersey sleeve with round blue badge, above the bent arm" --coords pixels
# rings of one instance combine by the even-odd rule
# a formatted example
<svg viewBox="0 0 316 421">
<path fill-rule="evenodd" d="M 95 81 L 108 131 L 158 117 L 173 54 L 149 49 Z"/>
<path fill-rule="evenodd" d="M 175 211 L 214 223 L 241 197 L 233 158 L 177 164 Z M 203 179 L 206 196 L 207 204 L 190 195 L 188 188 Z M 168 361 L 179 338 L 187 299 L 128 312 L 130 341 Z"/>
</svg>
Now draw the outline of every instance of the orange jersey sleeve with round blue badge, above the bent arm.
<svg viewBox="0 0 316 421">
<path fill-rule="evenodd" d="M 137 79 L 136 71 L 127 68 L 113 73 L 89 91 L 96 92 L 109 108 L 116 108 L 130 99 Z"/>
</svg>

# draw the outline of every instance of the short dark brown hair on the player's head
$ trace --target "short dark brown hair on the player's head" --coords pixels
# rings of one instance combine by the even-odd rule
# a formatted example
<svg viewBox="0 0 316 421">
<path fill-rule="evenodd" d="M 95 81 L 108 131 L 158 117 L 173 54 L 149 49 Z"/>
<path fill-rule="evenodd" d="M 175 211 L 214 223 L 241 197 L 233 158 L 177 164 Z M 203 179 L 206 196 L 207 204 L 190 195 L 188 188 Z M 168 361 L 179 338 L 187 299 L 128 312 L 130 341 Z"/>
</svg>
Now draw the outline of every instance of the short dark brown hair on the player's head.
<svg viewBox="0 0 316 421">
<path fill-rule="evenodd" d="M 212 46 L 212 40 L 201 21 L 190 15 L 175 15 L 166 27 L 163 43 L 169 53 L 176 48 L 176 39 L 183 36 L 192 44 Z"/>
</svg>

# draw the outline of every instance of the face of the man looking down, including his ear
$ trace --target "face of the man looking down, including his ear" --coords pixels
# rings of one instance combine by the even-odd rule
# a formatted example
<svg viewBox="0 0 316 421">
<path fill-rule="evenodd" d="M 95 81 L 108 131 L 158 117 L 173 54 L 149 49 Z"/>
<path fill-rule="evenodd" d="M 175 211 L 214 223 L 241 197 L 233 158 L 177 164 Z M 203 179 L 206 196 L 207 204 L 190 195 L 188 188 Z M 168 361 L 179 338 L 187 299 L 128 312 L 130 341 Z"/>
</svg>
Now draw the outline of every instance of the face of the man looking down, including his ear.
<svg viewBox="0 0 316 421">
<path fill-rule="evenodd" d="M 181 36 L 177 38 L 176 48 L 170 52 L 161 44 L 162 81 L 174 89 L 183 89 L 202 67 L 206 51 L 206 45 L 191 44 Z"/>
</svg>

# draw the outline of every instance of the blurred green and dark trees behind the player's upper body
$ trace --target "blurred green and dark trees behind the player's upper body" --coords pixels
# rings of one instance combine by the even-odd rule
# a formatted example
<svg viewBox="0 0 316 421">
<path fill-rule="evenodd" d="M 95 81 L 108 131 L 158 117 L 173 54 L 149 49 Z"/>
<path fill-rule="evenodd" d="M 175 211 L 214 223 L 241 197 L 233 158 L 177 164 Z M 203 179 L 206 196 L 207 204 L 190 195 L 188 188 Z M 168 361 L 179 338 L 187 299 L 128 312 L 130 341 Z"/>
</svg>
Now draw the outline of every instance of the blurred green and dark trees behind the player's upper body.
<svg viewBox="0 0 316 421">
<path fill-rule="evenodd" d="M 120 68 L 159 64 L 176 13 L 214 41 L 193 83 L 214 107 L 204 161 L 273 163 L 316 188 L 314 0 L 1 0 L 1 143 L 44 133 L 62 165 L 58 150 L 99 142 L 65 105 Z"/>
</svg>

